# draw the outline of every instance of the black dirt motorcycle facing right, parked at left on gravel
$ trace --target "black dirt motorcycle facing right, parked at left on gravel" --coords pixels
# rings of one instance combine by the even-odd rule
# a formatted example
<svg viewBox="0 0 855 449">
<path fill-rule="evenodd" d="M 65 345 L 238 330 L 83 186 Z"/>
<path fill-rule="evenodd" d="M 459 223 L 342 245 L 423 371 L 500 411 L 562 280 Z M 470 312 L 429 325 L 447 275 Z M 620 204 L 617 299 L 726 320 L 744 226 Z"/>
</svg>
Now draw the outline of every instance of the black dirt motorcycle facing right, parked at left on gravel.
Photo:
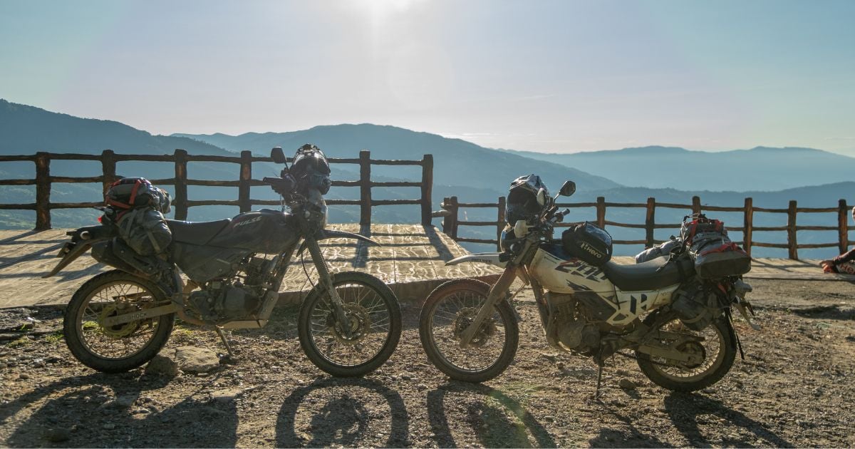
<svg viewBox="0 0 855 449">
<path fill-rule="evenodd" d="M 286 163 L 278 147 L 271 156 Z M 98 262 L 115 267 L 86 281 L 68 304 L 63 330 L 74 357 L 104 372 L 139 367 L 166 344 L 176 314 L 184 322 L 214 327 L 231 356 L 223 329 L 266 325 L 295 251 L 302 257 L 308 250 L 318 281 L 299 310 L 298 335 L 306 355 L 337 376 L 364 375 L 386 362 L 401 334 L 398 299 L 374 276 L 331 274 L 318 241 L 346 238 L 378 244 L 357 233 L 324 228 L 322 194 L 330 186 L 326 157 L 314 145 L 301 148 L 298 157 L 316 167 L 295 179 L 295 162 L 290 170 L 286 165 L 280 178 L 263 180 L 282 196 L 282 210 L 262 209 L 216 222 L 167 220 L 172 242 L 159 255 L 133 251 L 119 237 L 107 208 L 100 226 L 69 232 L 70 241 L 57 255 L 62 261 L 44 277 L 56 275 L 90 248 Z"/>
</svg>

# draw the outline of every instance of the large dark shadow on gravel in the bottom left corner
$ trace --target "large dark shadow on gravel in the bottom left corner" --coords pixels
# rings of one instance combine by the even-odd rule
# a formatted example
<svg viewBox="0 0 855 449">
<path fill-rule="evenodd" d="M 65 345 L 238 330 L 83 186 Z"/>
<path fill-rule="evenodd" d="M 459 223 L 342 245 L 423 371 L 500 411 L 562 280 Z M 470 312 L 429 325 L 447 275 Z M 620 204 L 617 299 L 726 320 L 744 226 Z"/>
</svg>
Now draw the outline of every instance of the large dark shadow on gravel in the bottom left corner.
<svg viewBox="0 0 855 449">
<path fill-rule="evenodd" d="M 8 425 L 17 415 L 27 416 L 24 422 L 16 424 L 15 432 L 6 442 L 13 447 L 237 444 L 238 418 L 233 402 L 222 403 L 191 395 L 164 408 L 145 393 L 167 387 L 173 378 L 134 377 L 103 373 L 81 375 L 24 394 L 0 408 L 2 425 Z M 41 403 L 57 390 L 68 392 Z M 175 434 L 174 425 L 164 426 L 166 422 L 181 422 L 182 432 Z M 63 436 L 59 437 L 60 434 Z"/>
</svg>

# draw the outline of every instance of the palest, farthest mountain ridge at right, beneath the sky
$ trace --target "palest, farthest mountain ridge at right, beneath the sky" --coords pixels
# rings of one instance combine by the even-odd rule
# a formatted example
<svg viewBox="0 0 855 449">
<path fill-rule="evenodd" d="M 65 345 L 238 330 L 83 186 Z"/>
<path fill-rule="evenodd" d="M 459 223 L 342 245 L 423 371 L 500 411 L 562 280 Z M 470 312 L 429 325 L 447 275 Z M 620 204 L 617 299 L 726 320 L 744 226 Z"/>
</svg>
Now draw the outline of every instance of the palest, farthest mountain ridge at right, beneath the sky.
<svg viewBox="0 0 855 449">
<path fill-rule="evenodd" d="M 577 168 L 624 186 L 771 192 L 855 180 L 855 158 L 811 148 L 758 146 L 709 152 L 645 146 L 570 154 L 504 151 Z"/>
</svg>

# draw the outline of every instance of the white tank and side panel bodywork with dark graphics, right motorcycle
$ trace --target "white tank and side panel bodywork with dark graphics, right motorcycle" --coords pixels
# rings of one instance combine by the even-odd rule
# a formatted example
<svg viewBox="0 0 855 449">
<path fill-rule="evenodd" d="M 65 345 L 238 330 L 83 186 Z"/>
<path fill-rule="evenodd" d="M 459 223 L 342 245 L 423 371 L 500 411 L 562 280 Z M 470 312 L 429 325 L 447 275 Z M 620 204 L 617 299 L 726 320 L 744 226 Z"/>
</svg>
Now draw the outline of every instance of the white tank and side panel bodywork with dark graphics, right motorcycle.
<svg viewBox="0 0 855 449">
<path fill-rule="evenodd" d="M 531 275 L 550 292 L 571 293 L 584 302 L 599 301 L 597 310 L 609 306 L 605 322 L 622 326 L 647 311 L 668 304 L 679 284 L 646 292 L 622 292 L 597 267 L 570 256 L 560 245 L 542 245 L 534 254 Z"/>
</svg>

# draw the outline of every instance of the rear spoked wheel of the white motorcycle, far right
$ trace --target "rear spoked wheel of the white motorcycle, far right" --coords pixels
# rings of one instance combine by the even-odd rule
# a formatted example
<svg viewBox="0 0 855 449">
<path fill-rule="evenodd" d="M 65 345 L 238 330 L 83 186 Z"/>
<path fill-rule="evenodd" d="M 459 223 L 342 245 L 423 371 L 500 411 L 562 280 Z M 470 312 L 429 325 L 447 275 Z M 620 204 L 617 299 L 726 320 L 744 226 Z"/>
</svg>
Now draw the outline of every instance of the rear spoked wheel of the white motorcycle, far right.
<svg viewBox="0 0 855 449">
<path fill-rule="evenodd" d="M 652 316 L 647 316 L 645 324 L 652 322 Z M 669 363 L 663 357 L 654 357 L 642 352 L 635 353 L 641 371 L 659 387 L 675 392 L 697 391 L 720 381 L 734 365 L 736 336 L 727 318 L 721 317 L 699 332 L 687 328 L 676 317 L 663 323 L 659 328 L 704 339 L 676 348 L 681 352 L 693 352 L 703 356 L 703 360 L 693 366 Z"/>
</svg>

